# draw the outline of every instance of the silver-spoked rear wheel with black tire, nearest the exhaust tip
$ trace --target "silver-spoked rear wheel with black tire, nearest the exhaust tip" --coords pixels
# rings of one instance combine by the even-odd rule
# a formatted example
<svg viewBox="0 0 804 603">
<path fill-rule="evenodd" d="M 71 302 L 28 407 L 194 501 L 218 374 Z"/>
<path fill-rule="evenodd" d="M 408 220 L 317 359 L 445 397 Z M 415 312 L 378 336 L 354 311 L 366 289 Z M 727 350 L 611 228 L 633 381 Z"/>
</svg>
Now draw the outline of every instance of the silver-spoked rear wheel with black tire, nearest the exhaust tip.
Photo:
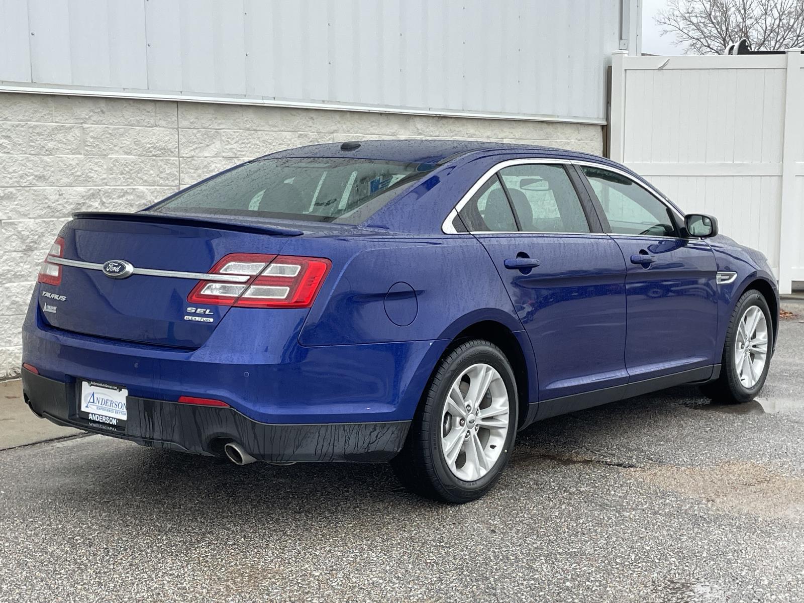
<svg viewBox="0 0 804 603">
<path fill-rule="evenodd" d="M 441 359 L 425 389 L 404 448 L 391 461 L 396 477 L 437 501 L 482 497 L 511 457 L 518 407 L 503 351 L 484 339 L 461 343 Z"/>
</svg>

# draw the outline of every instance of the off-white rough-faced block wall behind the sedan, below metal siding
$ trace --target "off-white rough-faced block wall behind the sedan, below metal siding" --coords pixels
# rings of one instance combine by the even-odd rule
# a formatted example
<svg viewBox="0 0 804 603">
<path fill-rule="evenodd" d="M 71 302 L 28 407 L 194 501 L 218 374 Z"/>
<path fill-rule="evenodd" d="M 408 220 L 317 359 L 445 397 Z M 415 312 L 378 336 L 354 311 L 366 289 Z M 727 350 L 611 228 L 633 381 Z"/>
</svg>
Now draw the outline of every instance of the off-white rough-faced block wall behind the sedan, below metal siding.
<svg viewBox="0 0 804 603">
<path fill-rule="evenodd" d="M 0 92 L 0 379 L 18 374 L 39 262 L 73 211 L 136 211 L 293 146 L 409 137 L 602 150 L 597 125 Z"/>
</svg>

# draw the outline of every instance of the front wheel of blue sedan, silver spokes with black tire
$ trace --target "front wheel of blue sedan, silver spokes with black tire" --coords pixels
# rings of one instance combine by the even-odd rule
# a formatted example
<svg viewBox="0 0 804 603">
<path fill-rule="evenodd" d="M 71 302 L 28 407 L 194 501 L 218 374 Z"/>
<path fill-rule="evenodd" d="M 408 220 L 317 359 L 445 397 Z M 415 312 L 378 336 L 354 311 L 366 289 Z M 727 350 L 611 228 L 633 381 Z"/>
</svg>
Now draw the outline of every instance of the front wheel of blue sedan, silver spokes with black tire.
<svg viewBox="0 0 804 603">
<path fill-rule="evenodd" d="M 753 400 L 765 384 L 772 355 L 773 320 L 768 302 L 762 293 L 749 289 L 737 301 L 728 323 L 720 377 L 702 385 L 701 391 L 720 404 Z"/>
</svg>

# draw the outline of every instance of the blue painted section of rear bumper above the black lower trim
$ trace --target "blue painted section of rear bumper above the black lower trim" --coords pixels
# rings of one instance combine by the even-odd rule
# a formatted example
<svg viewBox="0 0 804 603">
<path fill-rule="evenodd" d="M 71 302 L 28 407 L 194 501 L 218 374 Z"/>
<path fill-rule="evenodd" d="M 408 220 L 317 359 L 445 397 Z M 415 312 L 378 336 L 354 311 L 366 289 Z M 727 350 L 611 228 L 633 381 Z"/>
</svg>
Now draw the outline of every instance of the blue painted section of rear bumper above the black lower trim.
<svg viewBox="0 0 804 603">
<path fill-rule="evenodd" d="M 54 329 L 32 305 L 23 362 L 64 384 L 77 379 L 125 387 L 141 400 L 223 400 L 267 425 L 377 424 L 412 420 L 447 340 L 303 347 L 256 316 L 233 339 L 232 316 L 197 350 L 154 347 Z M 235 329 L 236 330 L 236 329 Z M 295 332 L 295 331 L 294 331 Z"/>
</svg>

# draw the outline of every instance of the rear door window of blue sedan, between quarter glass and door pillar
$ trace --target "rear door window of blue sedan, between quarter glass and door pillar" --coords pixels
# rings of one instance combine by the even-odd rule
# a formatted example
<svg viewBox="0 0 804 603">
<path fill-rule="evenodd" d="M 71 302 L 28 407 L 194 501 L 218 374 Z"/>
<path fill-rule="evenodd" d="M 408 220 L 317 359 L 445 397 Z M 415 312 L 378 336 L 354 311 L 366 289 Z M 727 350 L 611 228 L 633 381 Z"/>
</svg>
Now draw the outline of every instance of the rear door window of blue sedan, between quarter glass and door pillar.
<svg viewBox="0 0 804 603">
<path fill-rule="evenodd" d="M 524 232 L 589 232 L 564 166 L 529 163 L 503 168 L 499 174 Z"/>
</svg>

